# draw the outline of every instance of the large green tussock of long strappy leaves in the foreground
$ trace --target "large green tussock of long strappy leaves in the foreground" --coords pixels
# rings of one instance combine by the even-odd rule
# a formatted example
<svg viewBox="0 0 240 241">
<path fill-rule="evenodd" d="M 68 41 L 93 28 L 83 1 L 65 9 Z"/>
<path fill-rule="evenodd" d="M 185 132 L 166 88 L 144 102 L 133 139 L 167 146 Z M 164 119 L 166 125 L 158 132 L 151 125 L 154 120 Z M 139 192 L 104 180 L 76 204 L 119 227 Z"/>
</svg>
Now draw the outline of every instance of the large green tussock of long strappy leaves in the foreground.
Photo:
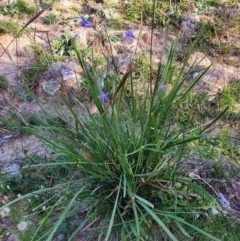
<svg viewBox="0 0 240 241">
<path fill-rule="evenodd" d="M 194 225 L 197 214 L 218 204 L 216 196 L 194 182 L 186 169 L 189 144 L 207 138 L 205 131 L 212 123 L 183 127 L 178 125 L 177 111 L 172 111 L 206 71 L 184 87 L 184 67 L 173 71 L 172 46 L 167 64 L 159 65 L 153 93 L 146 87 L 145 95 L 139 96 L 131 70 L 119 82 L 108 77 L 120 84 L 105 89 L 94 66 L 87 68 L 82 53 L 76 49 L 97 113 L 80 105 L 79 117 L 65 101 L 71 116 L 62 113 L 61 118 L 67 125 L 46 121 L 24 127 L 57 158 L 23 167 L 25 171 L 51 168 L 50 181 L 4 208 L 24 199 L 38 200 L 27 216 L 41 219 L 32 228 L 32 240 L 50 241 L 62 233 L 65 240 L 82 235 L 88 240 L 176 241 L 194 238 L 196 233 L 220 240 Z M 125 95 L 126 81 L 131 85 L 130 97 Z M 59 169 L 65 170 L 64 175 L 53 179 Z"/>
</svg>

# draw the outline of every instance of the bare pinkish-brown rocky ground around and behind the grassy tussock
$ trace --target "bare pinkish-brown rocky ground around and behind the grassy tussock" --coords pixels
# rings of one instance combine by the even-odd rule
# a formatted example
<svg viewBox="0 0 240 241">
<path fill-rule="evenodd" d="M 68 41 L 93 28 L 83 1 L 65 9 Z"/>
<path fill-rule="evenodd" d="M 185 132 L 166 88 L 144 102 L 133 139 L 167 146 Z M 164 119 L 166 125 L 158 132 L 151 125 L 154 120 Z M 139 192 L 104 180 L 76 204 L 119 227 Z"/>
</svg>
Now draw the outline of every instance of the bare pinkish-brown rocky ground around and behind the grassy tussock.
<svg viewBox="0 0 240 241">
<path fill-rule="evenodd" d="M 0 4 L 2 2 L 0 1 Z M 121 4 L 118 1 L 111 2 L 113 6 L 119 4 L 120 9 Z M 88 1 L 87 4 L 83 4 L 79 0 L 59 1 L 51 9 L 46 10 L 41 16 L 32 21 L 27 27 L 30 31 L 21 37 L 13 40 L 13 36 L 10 34 L 0 35 L 0 74 L 5 75 L 8 80 L 8 89 L 0 90 L 0 117 L 5 117 L 12 111 L 9 103 L 11 103 L 12 107 L 14 106 L 15 114 L 19 116 L 22 114 L 29 116 L 41 112 L 37 101 L 27 96 L 22 82 L 22 71 L 27 69 L 37 58 L 36 52 L 34 53 L 29 46 L 40 44 L 45 52 L 51 52 L 52 46 L 50 42 L 59 39 L 61 35 L 66 34 L 66 31 L 69 32 L 69 36 L 76 37 L 78 45 L 83 49 L 89 46 L 92 47 L 95 56 L 101 56 L 103 52 L 110 54 L 120 74 L 127 71 L 129 64 L 136 56 L 144 56 L 144 58 L 149 59 L 151 28 L 122 19 L 121 29 L 112 29 L 111 25 L 108 26 L 108 22 L 120 18 L 121 11 L 118 11 L 118 8 L 106 7 L 111 6 L 111 4 L 104 4 L 94 1 Z M 43 24 L 43 19 L 49 16 L 49 13 L 61 15 L 61 20 L 50 25 Z M 79 26 L 80 16 L 86 14 L 90 16 L 89 21 L 93 23 L 94 27 L 84 28 Z M 214 38 L 217 44 L 227 46 L 228 49 L 214 51 L 213 48 L 209 47 L 208 49 L 206 47 L 205 51 L 201 52 L 201 46 L 199 46 L 187 64 L 187 69 L 194 65 L 194 71 L 188 75 L 188 80 L 211 66 L 196 88 L 198 92 L 208 93 L 209 102 L 214 102 L 218 93 L 223 91 L 224 87 L 231 81 L 240 81 L 240 34 L 239 32 L 232 34 L 230 26 L 231 21 L 239 19 L 240 4 L 223 4 L 222 8 L 205 14 L 189 11 L 169 31 L 158 26 L 154 29 L 152 38 L 152 60 L 156 65 L 160 59 L 164 64 L 172 41 L 178 39 L 177 55 L 179 58 L 176 65 L 181 66 L 186 48 L 198 33 L 199 25 L 206 21 L 210 23 L 219 21 L 219 16 L 223 15 L 226 17 L 224 22 L 226 25 L 225 32 L 217 33 Z M 22 26 L 29 20 L 28 17 L 18 19 L 15 15 L 0 15 L 0 20 L 6 21 L 8 19 L 18 22 Z M 134 37 L 128 37 L 126 35 L 127 31 L 131 31 Z M 107 36 L 115 40 L 108 41 Z M 204 41 L 204 38 L 201 41 Z M 110 74 L 113 68 L 113 65 L 110 66 L 107 69 L 107 74 Z M 70 71 L 70 74 L 66 74 L 66 71 Z M 58 104 L 56 101 L 58 95 L 63 92 L 66 95 L 69 94 L 70 99 L 74 99 L 74 94 L 78 93 L 77 91 L 81 88 L 83 81 L 82 69 L 77 65 L 76 60 L 68 58 L 64 59 L 64 61 L 56 61 L 48 66 L 48 69 L 43 73 L 34 88 L 34 92 L 45 109 L 54 110 L 54 105 Z M 19 134 L 14 131 L 9 132 L 9 130 L 1 127 L 1 124 L 3 126 L 3 123 L 0 122 L 0 165 L 3 172 L 18 172 L 26 153 L 27 155 L 31 153 L 47 155 L 46 148 L 33 136 Z M 235 135 L 239 134 L 239 130 L 234 131 Z M 201 170 L 197 170 L 196 175 L 201 175 L 200 172 Z M 240 212 L 239 190 L 239 177 L 236 177 L 234 182 L 231 181 L 231 183 L 223 187 L 222 192 L 229 199 L 230 205 L 228 209 L 231 212 Z M 6 223 L 2 225 L 7 226 Z M 0 240 L 2 239 L 0 238 Z M 10 241 L 14 240 L 14 238 L 11 235 L 6 240 Z"/>
</svg>

